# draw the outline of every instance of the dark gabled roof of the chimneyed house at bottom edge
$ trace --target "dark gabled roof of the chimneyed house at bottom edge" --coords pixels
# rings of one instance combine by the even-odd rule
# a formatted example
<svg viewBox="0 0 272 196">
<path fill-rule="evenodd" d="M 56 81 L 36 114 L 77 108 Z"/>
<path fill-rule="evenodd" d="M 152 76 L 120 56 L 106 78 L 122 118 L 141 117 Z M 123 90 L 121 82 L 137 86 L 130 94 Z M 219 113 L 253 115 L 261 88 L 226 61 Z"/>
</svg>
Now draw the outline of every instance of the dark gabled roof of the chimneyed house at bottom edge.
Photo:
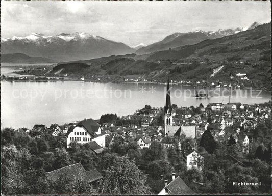
<svg viewBox="0 0 272 196">
<path fill-rule="evenodd" d="M 168 189 L 168 194 L 193 194 L 194 192 L 185 184 L 185 182 L 178 176 L 175 180 L 170 182 L 165 189 Z"/>
</svg>

